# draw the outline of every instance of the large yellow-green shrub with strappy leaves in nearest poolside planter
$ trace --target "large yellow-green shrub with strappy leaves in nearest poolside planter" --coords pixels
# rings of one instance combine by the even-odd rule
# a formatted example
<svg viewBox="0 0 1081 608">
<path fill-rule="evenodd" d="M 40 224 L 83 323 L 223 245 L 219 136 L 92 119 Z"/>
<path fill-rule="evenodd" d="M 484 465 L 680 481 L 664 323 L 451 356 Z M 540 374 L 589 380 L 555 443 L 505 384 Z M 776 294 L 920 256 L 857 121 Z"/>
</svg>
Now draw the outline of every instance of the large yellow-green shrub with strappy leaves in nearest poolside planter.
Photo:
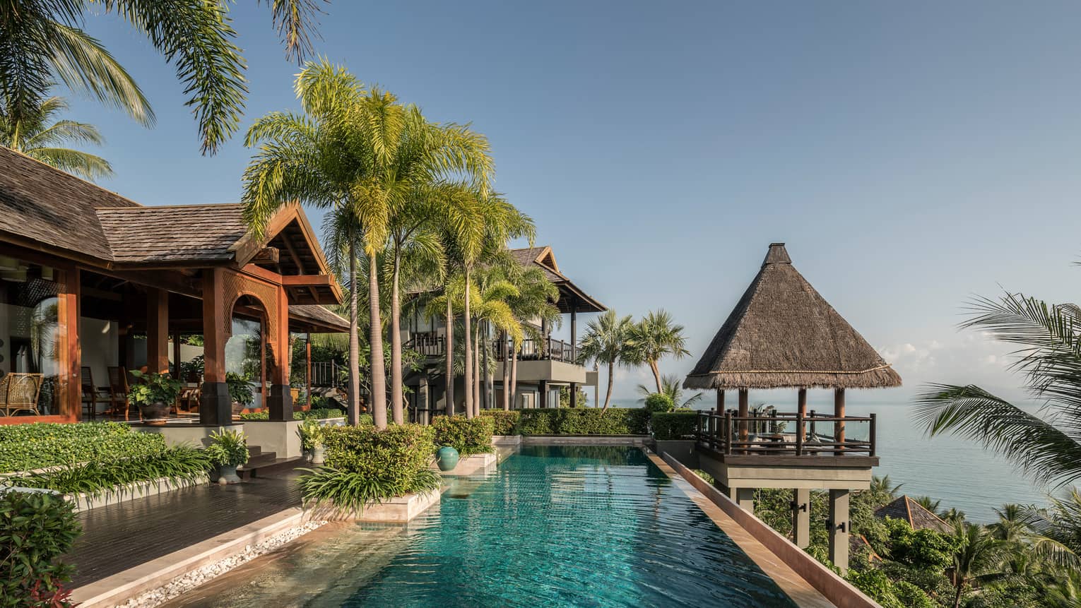
<svg viewBox="0 0 1081 608">
<path fill-rule="evenodd" d="M 370 502 L 439 488 L 428 469 L 436 450 L 432 430 L 418 424 L 328 427 L 326 463 L 298 479 L 306 505 L 333 504 L 360 510 Z"/>
</svg>

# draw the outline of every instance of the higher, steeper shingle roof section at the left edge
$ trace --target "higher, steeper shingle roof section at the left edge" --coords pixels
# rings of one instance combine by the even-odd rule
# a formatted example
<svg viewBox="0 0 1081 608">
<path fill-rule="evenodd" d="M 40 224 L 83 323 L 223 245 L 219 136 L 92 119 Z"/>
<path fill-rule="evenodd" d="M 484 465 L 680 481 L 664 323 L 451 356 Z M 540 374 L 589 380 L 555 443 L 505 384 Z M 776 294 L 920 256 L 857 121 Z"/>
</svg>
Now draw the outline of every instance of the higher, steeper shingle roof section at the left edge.
<svg viewBox="0 0 1081 608">
<path fill-rule="evenodd" d="M 141 205 L 105 188 L 0 147 L 0 232 L 111 260 L 95 208 Z"/>
</svg>

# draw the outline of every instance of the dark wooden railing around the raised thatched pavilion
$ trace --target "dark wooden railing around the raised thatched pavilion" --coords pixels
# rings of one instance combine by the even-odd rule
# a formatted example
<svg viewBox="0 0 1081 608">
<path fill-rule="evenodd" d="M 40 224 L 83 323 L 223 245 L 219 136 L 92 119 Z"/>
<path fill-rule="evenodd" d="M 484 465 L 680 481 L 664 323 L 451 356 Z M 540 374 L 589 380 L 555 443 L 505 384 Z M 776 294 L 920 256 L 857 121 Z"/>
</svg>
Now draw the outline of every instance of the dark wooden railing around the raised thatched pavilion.
<svg viewBox="0 0 1081 608">
<path fill-rule="evenodd" d="M 696 437 L 725 455 L 875 456 L 875 415 L 835 417 L 770 413 L 740 417 L 736 410 L 698 414 Z"/>
</svg>

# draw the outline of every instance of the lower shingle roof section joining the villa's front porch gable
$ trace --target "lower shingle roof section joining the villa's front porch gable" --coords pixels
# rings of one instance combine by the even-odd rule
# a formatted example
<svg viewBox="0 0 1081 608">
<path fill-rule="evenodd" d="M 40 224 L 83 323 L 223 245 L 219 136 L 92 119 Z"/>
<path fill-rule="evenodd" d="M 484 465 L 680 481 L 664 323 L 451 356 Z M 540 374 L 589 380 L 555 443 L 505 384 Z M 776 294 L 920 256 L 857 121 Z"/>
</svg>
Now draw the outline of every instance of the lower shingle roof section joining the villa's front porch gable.
<svg viewBox="0 0 1081 608">
<path fill-rule="evenodd" d="M 95 211 L 118 264 L 226 261 L 248 231 L 239 204 Z"/>
</svg>

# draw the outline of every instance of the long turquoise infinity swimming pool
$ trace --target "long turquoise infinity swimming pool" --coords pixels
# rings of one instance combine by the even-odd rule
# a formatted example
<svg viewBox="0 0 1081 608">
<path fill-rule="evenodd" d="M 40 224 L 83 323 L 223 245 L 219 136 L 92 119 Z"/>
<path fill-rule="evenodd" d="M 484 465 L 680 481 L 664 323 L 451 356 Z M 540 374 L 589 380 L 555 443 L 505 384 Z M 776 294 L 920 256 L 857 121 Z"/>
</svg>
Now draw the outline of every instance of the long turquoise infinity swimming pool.
<svg viewBox="0 0 1081 608">
<path fill-rule="evenodd" d="M 224 586 L 175 605 L 795 606 L 639 448 L 612 446 L 522 447 L 408 526 L 324 532 Z"/>
</svg>

